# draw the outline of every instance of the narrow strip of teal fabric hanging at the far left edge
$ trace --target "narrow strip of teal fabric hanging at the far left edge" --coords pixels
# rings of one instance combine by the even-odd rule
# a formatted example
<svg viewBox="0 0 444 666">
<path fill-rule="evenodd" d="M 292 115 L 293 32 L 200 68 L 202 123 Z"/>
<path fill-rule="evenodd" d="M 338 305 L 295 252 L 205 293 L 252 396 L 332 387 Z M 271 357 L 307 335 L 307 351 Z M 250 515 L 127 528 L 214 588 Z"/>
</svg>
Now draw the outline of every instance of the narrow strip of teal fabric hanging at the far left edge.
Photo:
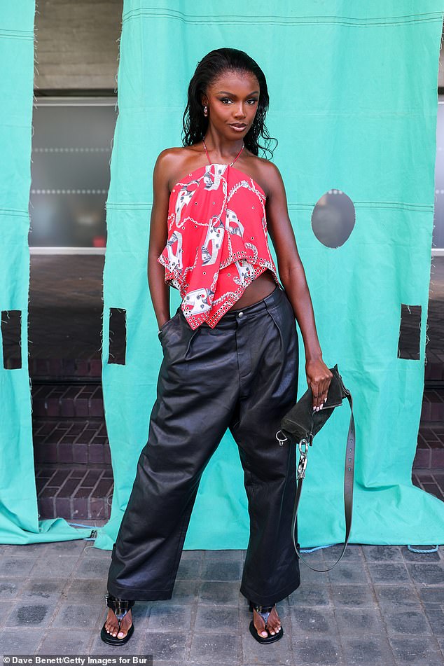
<svg viewBox="0 0 444 666">
<path fill-rule="evenodd" d="M 0 4 L 0 310 L 20 310 L 22 320 L 21 368 L 4 368 L 0 345 L 0 543 L 91 532 L 62 518 L 39 520 L 37 511 L 27 338 L 34 13 L 33 0 Z"/>
</svg>

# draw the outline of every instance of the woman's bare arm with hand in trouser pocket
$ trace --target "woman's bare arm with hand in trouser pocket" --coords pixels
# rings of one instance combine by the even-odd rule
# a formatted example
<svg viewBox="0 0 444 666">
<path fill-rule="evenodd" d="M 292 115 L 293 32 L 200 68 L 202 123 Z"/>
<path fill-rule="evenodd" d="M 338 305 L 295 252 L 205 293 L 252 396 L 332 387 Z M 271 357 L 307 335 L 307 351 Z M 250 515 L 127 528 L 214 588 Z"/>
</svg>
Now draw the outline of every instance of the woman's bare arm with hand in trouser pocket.
<svg viewBox="0 0 444 666">
<path fill-rule="evenodd" d="M 157 259 L 167 243 L 168 237 L 168 162 L 167 150 L 162 151 L 153 170 L 153 208 L 151 210 L 148 244 L 148 287 L 153 302 L 155 317 L 160 328 L 169 317 L 169 284 L 165 284 L 165 268 Z"/>
</svg>

